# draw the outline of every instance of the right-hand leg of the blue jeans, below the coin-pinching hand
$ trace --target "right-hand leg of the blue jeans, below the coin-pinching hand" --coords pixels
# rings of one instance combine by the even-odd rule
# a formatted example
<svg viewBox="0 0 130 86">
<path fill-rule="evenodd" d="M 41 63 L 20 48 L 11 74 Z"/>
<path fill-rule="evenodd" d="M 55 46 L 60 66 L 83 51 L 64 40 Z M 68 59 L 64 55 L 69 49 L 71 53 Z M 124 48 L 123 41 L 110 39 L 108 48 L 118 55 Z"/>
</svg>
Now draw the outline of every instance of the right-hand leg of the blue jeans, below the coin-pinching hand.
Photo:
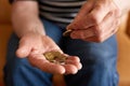
<svg viewBox="0 0 130 86">
<path fill-rule="evenodd" d="M 66 75 L 67 86 L 118 86 L 117 44 L 115 35 L 103 43 L 66 40 L 65 52 L 79 56 L 82 69 Z"/>
</svg>

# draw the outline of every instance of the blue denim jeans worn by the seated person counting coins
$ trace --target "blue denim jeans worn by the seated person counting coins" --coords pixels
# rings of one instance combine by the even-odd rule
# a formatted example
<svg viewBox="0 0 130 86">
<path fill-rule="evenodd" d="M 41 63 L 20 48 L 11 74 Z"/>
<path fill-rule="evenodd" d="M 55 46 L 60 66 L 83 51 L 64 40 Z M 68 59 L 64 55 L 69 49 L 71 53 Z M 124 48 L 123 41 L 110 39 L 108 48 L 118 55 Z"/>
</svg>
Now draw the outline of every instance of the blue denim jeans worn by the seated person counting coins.
<svg viewBox="0 0 130 86">
<path fill-rule="evenodd" d="M 82 69 L 65 75 L 67 86 L 118 86 L 117 43 L 113 35 L 103 43 L 62 37 L 63 27 L 42 19 L 47 34 L 68 55 L 79 56 Z M 52 74 L 34 68 L 26 58 L 17 58 L 20 39 L 12 34 L 4 67 L 5 86 L 52 86 Z"/>
</svg>

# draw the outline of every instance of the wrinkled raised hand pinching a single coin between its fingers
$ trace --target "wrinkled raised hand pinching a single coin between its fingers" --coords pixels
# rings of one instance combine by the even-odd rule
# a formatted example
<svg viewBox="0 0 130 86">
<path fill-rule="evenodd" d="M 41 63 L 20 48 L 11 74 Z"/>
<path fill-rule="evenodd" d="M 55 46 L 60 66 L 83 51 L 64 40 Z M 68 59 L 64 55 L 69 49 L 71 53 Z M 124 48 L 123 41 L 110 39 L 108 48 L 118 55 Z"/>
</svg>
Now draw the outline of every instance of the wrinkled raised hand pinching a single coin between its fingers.
<svg viewBox="0 0 130 86">
<path fill-rule="evenodd" d="M 88 0 L 68 25 L 73 39 L 103 42 L 117 32 L 121 11 L 113 0 Z"/>
</svg>

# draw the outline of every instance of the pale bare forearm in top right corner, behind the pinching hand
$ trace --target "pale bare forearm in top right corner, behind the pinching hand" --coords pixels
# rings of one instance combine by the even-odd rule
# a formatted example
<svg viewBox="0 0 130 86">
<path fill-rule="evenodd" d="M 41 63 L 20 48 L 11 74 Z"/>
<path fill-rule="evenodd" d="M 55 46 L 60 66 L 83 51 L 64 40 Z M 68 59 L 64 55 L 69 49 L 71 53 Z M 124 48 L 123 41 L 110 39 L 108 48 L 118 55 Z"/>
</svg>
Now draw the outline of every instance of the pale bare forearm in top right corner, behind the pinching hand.
<svg viewBox="0 0 130 86">
<path fill-rule="evenodd" d="M 130 0 L 114 0 L 117 6 L 121 10 L 121 14 L 130 11 Z"/>
</svg>

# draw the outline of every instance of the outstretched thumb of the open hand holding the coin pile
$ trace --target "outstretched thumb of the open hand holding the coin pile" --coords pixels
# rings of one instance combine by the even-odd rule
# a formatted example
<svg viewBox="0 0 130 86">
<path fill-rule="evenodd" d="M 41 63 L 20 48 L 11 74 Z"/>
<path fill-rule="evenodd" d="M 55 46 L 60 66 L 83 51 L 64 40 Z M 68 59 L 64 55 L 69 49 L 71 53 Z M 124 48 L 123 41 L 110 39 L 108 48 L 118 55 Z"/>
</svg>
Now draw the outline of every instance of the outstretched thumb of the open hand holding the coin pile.
<svg viewBox="0 0 130 86">
<path fill-rule="evenodd" d="M 31 46 L 29 43 L 21 42 L 16 51 L 16 56 L 20 58 L 25 58 L 29 55 Z"/>
</svg>

